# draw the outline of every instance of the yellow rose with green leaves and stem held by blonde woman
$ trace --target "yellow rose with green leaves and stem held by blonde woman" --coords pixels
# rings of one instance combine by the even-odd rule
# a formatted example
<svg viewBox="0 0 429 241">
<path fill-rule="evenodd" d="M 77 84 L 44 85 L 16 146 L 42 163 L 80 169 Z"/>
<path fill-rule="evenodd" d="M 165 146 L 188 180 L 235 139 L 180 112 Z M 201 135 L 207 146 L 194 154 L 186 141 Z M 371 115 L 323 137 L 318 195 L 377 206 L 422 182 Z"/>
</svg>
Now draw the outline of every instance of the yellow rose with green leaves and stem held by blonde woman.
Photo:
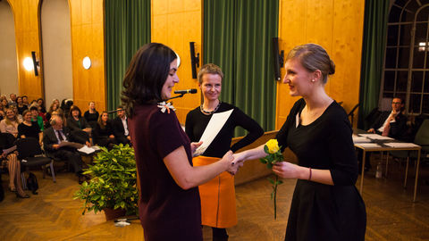
<svg viewBox="0 0 429 241">
<path fill-rule="evenodd" d="M 283 154 L 280 152 L 282 146 L 276 139 L 270 139 L 264 145 L 265 154 L 268 154 L 264 158 L 259 159 L 262 163 L 266 164 L 268 169 L 273 168 L 273 164 L 276 162 L 283 162 Z M 268 178 L 268 181 L 273 185 L 273 192 L 271 193 L 271 199 L 274 200 L 274 220 L 277 219 L 277 187 L 283 183 L 279 180 L 279 176 L 275 175 L 275 180 Z"/>
</svg>

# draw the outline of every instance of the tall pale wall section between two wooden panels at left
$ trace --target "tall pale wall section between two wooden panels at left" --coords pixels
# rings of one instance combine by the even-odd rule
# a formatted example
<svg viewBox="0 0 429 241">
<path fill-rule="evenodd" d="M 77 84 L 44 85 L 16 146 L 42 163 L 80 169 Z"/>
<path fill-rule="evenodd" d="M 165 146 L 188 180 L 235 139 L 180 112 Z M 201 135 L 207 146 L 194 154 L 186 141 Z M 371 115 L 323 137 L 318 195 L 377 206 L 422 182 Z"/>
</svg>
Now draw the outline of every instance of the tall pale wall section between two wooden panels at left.
<svg viewBox="0 0 429 241">
<path fill-rule="evenodd" d="M 53 99 L 73 97 L 71 70 L 71 23 L 67 0 L 43 0 L 42 52 L 46 108 Z"/>
</svg>

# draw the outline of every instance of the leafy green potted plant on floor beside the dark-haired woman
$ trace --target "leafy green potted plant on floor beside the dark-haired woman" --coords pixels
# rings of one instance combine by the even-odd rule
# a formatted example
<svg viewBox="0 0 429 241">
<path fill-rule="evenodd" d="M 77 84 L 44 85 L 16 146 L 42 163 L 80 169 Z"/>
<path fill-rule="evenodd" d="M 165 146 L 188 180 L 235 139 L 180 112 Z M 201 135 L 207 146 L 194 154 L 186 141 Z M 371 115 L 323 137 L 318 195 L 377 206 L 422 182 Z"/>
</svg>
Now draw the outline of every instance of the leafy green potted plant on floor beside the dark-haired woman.
<svg viewBox="0 0 429 241">
<path fill-rule="evenodd" d="M 106 219 L 112 220 L 138 213 L 136 161 L 130 145 L 114 145 L 110 151 L 101 147 L 94 163 L 83 174 L 92 179 L 83 182 L 74 195 L 74 199 L 85 201 L 82 215 L 87 211 L 105 211 Z M 116 217 L 110 216 L 110 212 L 121 210 Z"/>
</svg>

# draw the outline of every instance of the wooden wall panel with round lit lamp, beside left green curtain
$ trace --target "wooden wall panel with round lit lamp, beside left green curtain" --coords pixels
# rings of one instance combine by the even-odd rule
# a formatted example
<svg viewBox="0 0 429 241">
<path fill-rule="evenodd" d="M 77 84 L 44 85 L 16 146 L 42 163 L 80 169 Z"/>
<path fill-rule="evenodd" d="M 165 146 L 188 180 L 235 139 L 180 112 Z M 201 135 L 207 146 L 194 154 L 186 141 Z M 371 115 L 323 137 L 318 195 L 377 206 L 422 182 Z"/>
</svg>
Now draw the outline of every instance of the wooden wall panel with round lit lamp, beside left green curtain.
<svg viewBox="0 0 429 241">
<path fill-rule="evenodd" d="M 104 1 L 69 0 L 71 8 L 71 58 L 73 68 L 73 100 L 82 112 L 88 102 L 95 101 L 97 110 L 105 104 L 105 37 Z M 82 60 L 91 59 L 85 70 Z"/>
</svg>

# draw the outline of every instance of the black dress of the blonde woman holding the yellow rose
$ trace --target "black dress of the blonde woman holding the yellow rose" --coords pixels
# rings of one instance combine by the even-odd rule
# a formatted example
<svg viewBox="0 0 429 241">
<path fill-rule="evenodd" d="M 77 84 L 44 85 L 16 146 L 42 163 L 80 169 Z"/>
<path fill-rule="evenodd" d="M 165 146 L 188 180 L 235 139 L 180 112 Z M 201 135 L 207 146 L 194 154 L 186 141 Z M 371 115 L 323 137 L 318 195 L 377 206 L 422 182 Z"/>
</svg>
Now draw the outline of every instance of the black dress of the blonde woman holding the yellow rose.
<svg viewBox="0 0 429 241">
<path fill-rule="evenodd" d="M 333 186 L 299 179 L 290 205 L 285 240 L 365 240 L 366 208 L 355 183 L 357 157 L 346 112 L 332 102 L 309 125 L 299 123 L 300 99 L 277 134 L 300 166 L 330 170 Z"/>
</svg>

